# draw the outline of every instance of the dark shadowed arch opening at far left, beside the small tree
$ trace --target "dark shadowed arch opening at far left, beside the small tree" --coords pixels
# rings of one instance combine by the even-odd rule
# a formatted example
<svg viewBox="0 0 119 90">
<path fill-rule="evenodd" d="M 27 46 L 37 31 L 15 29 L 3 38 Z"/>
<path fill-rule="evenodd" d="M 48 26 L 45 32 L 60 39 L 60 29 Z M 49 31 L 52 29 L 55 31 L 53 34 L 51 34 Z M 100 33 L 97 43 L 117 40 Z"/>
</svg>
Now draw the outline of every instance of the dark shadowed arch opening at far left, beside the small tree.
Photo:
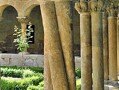
<svg viewBox="0 0 119 90">
<path fill-rule="evenodd" d="M 14 25 L 19 26 L 17 10 L 11 5 L 4 5 L 2 9 L 2 20 L 0 22 L 1 52 L 15 53 L 16 47 L 13 43 Z"/>
</svg>

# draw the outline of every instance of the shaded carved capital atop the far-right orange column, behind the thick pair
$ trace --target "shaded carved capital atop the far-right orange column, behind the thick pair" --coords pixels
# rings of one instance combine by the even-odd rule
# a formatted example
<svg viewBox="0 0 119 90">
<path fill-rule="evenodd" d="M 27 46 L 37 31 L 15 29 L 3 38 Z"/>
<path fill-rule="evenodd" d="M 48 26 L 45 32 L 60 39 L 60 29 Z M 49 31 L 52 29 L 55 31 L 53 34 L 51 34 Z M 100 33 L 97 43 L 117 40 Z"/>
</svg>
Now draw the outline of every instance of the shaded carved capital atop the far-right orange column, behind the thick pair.
<svg viewBox="0 0 119 90">
<path fill-rule="evenodd" d="M 110 3 L 110 5 L 107 7 L 107 12 L 108 12 L 108 16 L 113 16 L 113 17 L 117 16 L 117 8 L 114 5 L 114 3 Z"/>
</svg>

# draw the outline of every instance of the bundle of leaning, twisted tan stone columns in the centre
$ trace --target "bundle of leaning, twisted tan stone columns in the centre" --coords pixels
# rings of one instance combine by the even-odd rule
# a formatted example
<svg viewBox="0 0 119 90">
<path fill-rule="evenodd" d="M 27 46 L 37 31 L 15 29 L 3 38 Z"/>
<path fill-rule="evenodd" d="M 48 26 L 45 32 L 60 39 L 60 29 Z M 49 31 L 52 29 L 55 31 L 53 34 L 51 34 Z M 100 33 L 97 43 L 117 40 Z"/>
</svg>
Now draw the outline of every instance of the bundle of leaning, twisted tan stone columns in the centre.
<svg viewBox="0 0 119 90">
<path fill-rule="evenodd" d="M 76 90 L 71 1 L 40 3 L 44 27 L 44 90 Z"/>
</svg>

